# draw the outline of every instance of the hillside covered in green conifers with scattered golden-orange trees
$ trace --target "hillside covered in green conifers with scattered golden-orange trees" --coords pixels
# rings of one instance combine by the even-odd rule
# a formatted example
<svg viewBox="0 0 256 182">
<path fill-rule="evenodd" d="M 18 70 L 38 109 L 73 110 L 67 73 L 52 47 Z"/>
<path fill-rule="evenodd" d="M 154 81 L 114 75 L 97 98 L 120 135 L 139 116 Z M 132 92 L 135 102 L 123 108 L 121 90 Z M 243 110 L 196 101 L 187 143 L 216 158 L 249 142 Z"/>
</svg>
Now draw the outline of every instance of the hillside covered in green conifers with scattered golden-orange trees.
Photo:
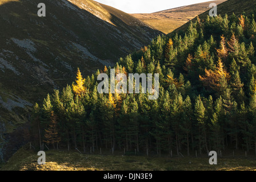
<svg viewBox="0 0 256 182">
<path fill-rule="evenodd" d="M 95 78 L 104 73 L 109 88 L 110 67 L 86 79 L 77 69 L 75 84 L 52 90 L 34 105 L 27 141 L 35 151 L 88 154 L 104 148 L 113 155 L 193 158 L 214 150 L 218 157 L 255 156 L 255 12 L 197 18 L 186 30 L 159 35 L 119 59 L 113 69 L 123 76 L 158 73 L 159 97 L 153 100 L 149 92 L 130 89 L 99 93 L 102 82 Z M 135 84 L 116 82 L 115 90 Z"/>
</svg>

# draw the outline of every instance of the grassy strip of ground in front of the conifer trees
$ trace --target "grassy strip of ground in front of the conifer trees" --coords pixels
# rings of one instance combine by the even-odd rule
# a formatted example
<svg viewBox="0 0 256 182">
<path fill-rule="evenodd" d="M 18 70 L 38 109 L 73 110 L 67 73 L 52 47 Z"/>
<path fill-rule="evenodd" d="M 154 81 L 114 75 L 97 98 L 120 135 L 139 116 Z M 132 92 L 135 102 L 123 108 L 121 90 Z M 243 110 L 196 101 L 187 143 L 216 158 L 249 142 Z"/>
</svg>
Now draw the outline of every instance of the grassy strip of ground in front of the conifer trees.
<svg viewBox="0 0 256 182">
<path fill-rule="evenodd" d="M 46 151 L 46 164 L 38 165 L 37 152 L 22 147 L 2 166 L 2 171 L 256 171 L 251 158 L 218 159 L 210 165 L 209 158 L 148 157 L 122 155 L 89 155 L 77 151 Z"/>
</svg>

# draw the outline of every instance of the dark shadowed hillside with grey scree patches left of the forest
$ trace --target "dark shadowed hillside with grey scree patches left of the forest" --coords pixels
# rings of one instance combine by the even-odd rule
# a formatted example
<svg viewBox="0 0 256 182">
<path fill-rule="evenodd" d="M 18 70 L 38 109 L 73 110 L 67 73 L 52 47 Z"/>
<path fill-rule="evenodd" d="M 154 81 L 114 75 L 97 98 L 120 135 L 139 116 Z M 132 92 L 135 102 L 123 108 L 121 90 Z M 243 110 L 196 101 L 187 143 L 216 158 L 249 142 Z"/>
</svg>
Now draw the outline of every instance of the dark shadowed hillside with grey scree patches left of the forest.
<svg viewBox="0 0 256 182">
<path fill-rule="evenodd" d="M 77 67 L 83 76 L 91 75 L 159 34 L 91 0 L 46 0 L 46 17 L 37 16 L 40 2 L 0 1 L 0 143 L 26 123 L 35 101 L 71 84 Z M 21 138 L 20 133 L 13 135 Z M 9 148 L 15 151 L 21 144 Z"/>
</svg>

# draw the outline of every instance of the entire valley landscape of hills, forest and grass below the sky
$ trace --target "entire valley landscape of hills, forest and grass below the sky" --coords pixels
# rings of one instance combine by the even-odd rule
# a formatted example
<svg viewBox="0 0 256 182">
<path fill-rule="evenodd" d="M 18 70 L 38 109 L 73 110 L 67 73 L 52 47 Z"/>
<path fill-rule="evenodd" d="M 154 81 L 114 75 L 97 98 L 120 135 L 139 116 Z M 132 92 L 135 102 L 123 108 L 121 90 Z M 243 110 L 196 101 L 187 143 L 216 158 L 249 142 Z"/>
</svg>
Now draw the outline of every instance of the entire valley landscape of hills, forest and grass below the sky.
<svg viewBox="0 0 256 182">
<path fill-rule="evenodd" d="M 2 171 L 255 170 L 255 1 L 127 14 L 45 0 L 42 17 L 38 3 L 0 2 Z M 157 73 L 157 98 L 98 92 L 113 71 Z"/>
</svg>

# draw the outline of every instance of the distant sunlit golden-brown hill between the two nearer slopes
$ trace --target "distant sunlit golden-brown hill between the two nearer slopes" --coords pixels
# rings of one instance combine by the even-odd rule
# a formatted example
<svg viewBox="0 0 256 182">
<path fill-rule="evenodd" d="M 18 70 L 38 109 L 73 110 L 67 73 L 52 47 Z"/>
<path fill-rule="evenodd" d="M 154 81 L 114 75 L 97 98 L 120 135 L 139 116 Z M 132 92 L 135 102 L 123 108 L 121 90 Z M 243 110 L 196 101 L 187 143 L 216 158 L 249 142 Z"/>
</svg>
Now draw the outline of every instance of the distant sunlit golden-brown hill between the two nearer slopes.
<svg viewBox="0 0 256 182">
<path fill-rule="evenodd" d="M 165 34 L 169 34 L 176 28 L 195 18 L 197 15 L 207 11 L 209 9 L 208 7 L 210 3 L 216 3 L 219 5 L 225 1 L 226 0 L 209 1 L 189 6 L 177 7 L 170 10 L 159 11 L 156 13 L 131 15 L 155 28 L 156 30 L 162 31 Z"/>
</svg>

